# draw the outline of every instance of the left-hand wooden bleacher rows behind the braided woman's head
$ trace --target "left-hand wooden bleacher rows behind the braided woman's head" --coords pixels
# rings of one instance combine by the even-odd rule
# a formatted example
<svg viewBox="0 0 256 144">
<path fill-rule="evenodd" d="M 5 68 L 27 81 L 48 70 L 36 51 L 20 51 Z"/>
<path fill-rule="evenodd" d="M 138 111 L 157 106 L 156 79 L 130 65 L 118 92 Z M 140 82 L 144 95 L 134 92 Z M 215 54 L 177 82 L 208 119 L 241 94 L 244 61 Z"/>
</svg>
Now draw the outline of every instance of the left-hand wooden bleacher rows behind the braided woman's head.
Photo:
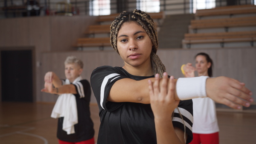
<svg viewBox="0 0 256 144">
<path fill-rule="evenodd" d="M 157 13 L 149 13 L 151 17 L 155 20 L 163 19 L 164 12 L 157 12 Z M 111 15 L 102 15 L 98 16 L 96 22 L 102 23 L 107 21 L 113 21 L 118 14 L 111 14 Z M 156 23 L 157 25 L 157 23 Z M 102 24 L 102 25 L 91 25 L 88 29 L 84 32 L 84 34 L 89 35 L 96 35 L 96 34 L 103 34 L 103 33 L 110 33 L 110 24 Z M 100 50 L 103 50 L 105 46 L 111 46 L 110 38 L 109 37 L 84 37 L 79 38 L 74 45 L 74 47 L 82 48 L 82 47 L 99 47 Z"/>
</svg>

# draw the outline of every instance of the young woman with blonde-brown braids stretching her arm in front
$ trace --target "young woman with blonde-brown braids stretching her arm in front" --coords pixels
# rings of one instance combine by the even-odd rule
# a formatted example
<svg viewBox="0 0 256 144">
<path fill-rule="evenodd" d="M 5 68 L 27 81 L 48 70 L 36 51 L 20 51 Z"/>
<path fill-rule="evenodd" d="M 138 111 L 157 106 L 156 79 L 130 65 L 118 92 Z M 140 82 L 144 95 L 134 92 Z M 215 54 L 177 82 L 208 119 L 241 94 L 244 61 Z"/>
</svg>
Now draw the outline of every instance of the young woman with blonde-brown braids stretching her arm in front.
<svg viewBox="0 0 256 144">
<path fill-rule="evenodd" d="M 231 78 L 168 79 L 156 55 L 157 30 L 145 12 L 122 12 L 111 24 L 110 39 L 124 66 L 101 66 L 92 72 L 101 121 L 98 144 L 189 143 L 189 99 L 208 96 L 236 109 L 253 101 L 244 84 Z"/>
</svg>

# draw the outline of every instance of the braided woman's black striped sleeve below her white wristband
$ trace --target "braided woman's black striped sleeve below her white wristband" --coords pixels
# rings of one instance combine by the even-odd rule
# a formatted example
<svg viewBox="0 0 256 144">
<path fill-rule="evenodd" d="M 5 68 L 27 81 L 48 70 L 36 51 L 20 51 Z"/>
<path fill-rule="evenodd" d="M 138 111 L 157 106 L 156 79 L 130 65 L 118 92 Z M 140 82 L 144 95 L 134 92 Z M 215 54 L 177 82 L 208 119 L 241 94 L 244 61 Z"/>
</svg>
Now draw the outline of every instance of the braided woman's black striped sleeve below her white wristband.
<svg viewBox="0 0 256 144">
<path fill-rule="evenodd" d="M 180 117 L 182 115 L 182 118 Z M 186 144 L 189 144 L 193 139 L 192 125 L 193 125 L 193 102 L 192 100 L 180 101 L 178 109 L 174 110 L 174 116 L 172 119 L 174 127 L 179 127 L 184 131 L 184 125 L 186 126 L 186 134 L 188 135 Z"/>
</svg>

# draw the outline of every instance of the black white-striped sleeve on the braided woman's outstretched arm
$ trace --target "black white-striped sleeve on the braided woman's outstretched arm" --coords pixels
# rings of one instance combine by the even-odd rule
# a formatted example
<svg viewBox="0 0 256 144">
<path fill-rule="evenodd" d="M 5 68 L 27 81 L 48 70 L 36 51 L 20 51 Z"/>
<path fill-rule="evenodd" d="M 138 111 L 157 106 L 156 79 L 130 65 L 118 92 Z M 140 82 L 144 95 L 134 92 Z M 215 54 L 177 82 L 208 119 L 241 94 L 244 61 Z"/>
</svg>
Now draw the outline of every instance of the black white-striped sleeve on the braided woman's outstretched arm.
<svg viewBox="0 0 256 144">
<path fill-rule="evenodd" d="M 107 101 L 111 87 L 122 78 L 128 77 L 112 66 L 100 66 L 93 70 L 90 82 L 99 107 L 113 111 L 122 105 L 122 103 Z"/>
</svg>

